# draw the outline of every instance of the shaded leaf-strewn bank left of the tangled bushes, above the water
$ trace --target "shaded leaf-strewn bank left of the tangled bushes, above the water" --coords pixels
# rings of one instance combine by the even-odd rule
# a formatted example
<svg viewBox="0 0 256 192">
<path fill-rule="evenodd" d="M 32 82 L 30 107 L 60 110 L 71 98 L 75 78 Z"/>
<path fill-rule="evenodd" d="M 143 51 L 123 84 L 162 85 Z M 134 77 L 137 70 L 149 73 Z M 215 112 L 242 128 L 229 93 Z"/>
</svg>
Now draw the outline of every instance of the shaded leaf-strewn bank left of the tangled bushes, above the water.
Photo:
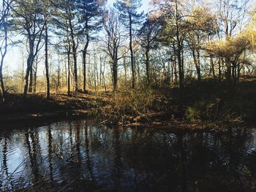
<svg viewBox="0 0 256 192">
<path fill-rule="evenodd" d="M 0 123 L 58 121 L 74 118 L 94 118 L 97 104 L 102 106 L 108 96 L 79 94 L 69 97 L 60 94 L 45 99 L 44 94 L 31 94 L 23 99 L 21 94 L 9 94 L 7 102 L 0 104 Z"/>
</svg>

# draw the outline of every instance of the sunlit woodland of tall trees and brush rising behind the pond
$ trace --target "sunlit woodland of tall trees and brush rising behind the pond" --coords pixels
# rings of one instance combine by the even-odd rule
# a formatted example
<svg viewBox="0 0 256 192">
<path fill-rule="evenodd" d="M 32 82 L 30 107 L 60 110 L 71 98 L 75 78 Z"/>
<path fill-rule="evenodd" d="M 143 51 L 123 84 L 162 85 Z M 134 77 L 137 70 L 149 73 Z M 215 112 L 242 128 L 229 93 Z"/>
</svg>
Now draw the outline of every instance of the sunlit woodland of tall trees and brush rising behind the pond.
<svg viewBox="0 0 256 192">
<path fill-rule="evenodd" d="M 2 0 L 1 116 L 252 122 L 255 24 L 252 0 Z"/>
</svg>

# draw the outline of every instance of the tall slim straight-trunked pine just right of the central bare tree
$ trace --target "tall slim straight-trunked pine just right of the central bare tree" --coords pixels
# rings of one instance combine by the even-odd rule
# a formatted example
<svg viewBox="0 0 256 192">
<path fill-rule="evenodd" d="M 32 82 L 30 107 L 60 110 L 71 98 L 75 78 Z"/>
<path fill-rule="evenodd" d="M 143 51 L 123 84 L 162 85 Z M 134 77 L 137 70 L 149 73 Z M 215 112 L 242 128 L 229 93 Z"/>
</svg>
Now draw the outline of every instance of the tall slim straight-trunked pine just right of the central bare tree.
<svg viewBox="0 0 256 192">
<path fill-rule="evenodd" d="M 138 13 L 141 7 L 141 0 L 118 0 L 114 4 L 118 9 L 119 18 L 121 23 L 129 30 L 129 52 L 131 56 L 131 69 L 132 69 L 132 88 L 135 88 L 135 56 L 133 51 L 132 39 L 136 31 L 136 25 L 141 22 L 143 12 Z"/>
</svg>

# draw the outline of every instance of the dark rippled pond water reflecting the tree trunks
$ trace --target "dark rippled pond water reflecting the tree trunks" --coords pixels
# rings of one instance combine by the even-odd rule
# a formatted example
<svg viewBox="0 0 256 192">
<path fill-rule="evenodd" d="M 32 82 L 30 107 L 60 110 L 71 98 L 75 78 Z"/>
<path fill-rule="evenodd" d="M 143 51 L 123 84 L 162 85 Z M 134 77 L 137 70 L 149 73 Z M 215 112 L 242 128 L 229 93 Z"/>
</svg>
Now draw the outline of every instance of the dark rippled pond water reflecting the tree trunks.
<svg viewBox="0 0 256 192">
<path fill-rule="evenodd" d="M 256 191 L 256 129 L 12 128 L 0 132 L 0 191 Z"/>
</svg>

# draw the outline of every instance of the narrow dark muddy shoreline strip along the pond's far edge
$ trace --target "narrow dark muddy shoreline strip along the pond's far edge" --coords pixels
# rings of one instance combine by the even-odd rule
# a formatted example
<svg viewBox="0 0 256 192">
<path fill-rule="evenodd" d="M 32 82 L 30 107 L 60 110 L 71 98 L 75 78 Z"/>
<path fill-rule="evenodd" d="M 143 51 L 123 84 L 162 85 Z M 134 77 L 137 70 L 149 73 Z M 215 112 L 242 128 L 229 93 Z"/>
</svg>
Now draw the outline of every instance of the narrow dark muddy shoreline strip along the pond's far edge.
<svg viewBox="0 0 256 192">
<path fill-rule="evenodd" d="M 106 125 L 108 127 L 120 127 L 120 128 L 148 128 L 159 131 L 228 131 L 231 127 L 244 126 L 254 127 L 255 123 L 243 122 L 237 124 L 224 123 L 224 122 L 203 122 L 203 123 L 190 123 L 186 120 L 167 120 L 165 115 L 158 116 L 161 119 L 155 119 L 151 121 L 137 121 L 131 123 L 110 124 L 108 120 L 97 120 L 95 118 L 97 114 L 94 110 L 60 110 L 54 112 L 17 112 L 0 115 L 0 131 L 5 128 L 1 126 L 8 126 L 18 128 L 19 126 L 27 126 L 28 123 L 31 126 L 48 125 L 49 123 L 57 123 L 66 120 L 96 120 L 98 124 Z"/>
</svg>

